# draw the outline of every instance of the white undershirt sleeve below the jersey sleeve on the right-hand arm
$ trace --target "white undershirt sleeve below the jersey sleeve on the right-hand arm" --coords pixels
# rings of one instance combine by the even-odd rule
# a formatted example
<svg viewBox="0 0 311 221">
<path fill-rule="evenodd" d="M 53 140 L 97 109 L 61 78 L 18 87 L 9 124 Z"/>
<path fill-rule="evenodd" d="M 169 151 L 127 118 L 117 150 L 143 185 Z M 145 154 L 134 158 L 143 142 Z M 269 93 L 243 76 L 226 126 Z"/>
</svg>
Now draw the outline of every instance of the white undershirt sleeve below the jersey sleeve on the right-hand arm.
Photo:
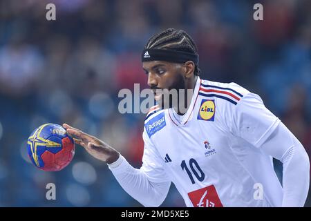
<svg viewBox="0 0 311 221">
<path fill-rule="evenodd" d="M 283 163 L 282 206 L 303 206 L 310 182 L 310 162 L 303 145 L 280 122 L 261 149 Z"/>
</svg>

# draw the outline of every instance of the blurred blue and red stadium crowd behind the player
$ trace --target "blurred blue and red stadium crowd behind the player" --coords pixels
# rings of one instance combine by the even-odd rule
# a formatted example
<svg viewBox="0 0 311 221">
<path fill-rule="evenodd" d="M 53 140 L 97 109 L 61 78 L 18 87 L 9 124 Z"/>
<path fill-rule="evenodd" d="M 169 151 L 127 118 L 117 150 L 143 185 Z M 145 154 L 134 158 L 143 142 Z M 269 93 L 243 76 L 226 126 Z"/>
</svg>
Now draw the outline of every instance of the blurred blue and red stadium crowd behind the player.
<svg viewBox="0 0 311 221">
<path fill-rule="evenodd" d="M 47 3 L 57 21 L 46 21 Z M 254 3 L 264 21 L 253 20 Z M 189 32 L 202 78 L 261 95 L 310 155 L 311 1 L 1 0 L 0 206 L 140 206 L 79 146 L 66 169 L 48 173 L 29 163 L 26 140 L 41 124 L 67 122 L 139 167 L 144 115 L 118 113 L 117 93 L 147 87 L 140 52 L 164 28 Z M 173 184 L 162 206 L 185 206 Z"/>
</svg>

